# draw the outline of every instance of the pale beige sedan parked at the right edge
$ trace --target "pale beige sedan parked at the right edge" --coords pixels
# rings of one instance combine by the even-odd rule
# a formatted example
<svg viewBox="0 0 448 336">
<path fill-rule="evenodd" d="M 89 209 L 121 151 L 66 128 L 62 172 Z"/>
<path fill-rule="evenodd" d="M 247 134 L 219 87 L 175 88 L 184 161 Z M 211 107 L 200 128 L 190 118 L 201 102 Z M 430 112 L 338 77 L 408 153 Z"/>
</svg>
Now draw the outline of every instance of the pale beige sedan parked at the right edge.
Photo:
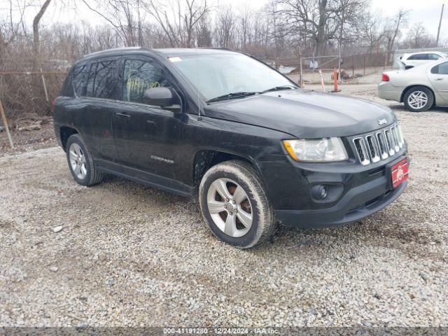
<svg viewBox="0 0 448 336">
<path fill-rule="evenodd" d="M 448 59 L 383 73 L 378 97 L 405 103 L 413 112 L 448 105 Z"/>
</svg>

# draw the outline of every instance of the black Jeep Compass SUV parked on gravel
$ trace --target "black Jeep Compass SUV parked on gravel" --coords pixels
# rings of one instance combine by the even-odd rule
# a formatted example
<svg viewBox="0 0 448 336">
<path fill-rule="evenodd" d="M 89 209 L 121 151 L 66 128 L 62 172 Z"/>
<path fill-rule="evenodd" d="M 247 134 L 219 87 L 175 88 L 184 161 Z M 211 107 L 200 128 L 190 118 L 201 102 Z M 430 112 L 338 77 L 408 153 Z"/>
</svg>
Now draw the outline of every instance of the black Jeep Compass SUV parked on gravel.
<svg viewBox="0 0 448 336">
<path fill-rule="evenodd" d="M 229 50 L 87 55 L 54 117 L 76 182 L 108 173 L 198 199 L 214 235 L 239 248 L 276 223 L 358 221 L 407 185 L 407 145 L 390 109 L 302 90 Z"/>
</svg>

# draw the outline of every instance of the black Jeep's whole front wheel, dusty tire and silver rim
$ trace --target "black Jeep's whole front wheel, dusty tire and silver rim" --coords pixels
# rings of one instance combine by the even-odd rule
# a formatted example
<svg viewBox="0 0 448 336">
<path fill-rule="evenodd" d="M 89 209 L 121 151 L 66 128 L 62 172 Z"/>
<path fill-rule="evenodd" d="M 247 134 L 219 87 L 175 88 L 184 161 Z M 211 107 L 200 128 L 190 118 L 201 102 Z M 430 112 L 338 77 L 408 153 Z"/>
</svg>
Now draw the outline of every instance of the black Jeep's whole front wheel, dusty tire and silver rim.
<svg viewBox="0 0 448 336">
<path fill-rule="evenodd" d="M 215 165 L 204 174 L 200 208 L 218 239 L 237 248 L 251 248 L 272 236 L 274 211 L 261 181 L 251 165 L 237 160 Z M 227 195 L 223 195 L 225 190 Z"/>
</svg>

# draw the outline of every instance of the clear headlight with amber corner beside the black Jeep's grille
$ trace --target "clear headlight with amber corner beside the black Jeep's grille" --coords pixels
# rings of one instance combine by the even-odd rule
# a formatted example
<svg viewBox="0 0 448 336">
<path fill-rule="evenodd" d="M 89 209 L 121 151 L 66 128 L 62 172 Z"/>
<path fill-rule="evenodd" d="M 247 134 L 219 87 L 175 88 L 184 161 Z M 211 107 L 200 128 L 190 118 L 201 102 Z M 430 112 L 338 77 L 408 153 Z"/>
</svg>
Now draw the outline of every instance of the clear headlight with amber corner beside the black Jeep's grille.
<svg viewBox="0 0 448 336">
<path fill-rule="evenodd" d="M 284 140 L 291 158 L 304 162 L 335 162 L 349 159 L 340 138 Z"/>
</svg>

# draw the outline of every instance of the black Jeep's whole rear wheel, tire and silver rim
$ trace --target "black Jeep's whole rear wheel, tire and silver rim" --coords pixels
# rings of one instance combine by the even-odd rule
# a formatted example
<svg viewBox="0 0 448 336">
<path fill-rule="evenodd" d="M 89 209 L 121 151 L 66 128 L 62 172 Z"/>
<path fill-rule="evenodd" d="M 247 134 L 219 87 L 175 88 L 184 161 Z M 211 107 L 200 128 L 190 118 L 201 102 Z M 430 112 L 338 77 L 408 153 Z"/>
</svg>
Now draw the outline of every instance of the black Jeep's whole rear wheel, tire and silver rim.
<svg viewBox="0 0 448 336">
<path fill-rule="evenodd" d="M 92 155 L 87 150 L 79 134 L 69 137 L 66 144 L 66 158 L 73 179 L 81 186 L 94 186 L 103 179 L 103 174 L 95 167 Z M 79 168 L 79 170 L 76 170 Z"/>
</svg>

